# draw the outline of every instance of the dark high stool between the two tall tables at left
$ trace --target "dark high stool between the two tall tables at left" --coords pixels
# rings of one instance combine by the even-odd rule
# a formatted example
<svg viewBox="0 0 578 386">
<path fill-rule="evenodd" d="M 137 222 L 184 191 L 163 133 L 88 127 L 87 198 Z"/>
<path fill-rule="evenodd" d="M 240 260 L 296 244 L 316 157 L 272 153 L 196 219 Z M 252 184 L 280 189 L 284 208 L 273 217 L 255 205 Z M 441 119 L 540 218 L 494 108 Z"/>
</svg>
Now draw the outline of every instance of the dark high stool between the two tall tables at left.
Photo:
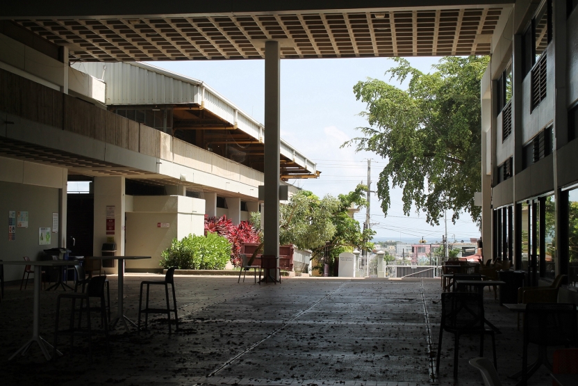
<svg viewBox="0 0 578 386">
<path fill-rule="evenodd" d="M 101 320 L 104 321 L 103 329 L 104 335 L 106 336 L 106 351 L 108 355 L 108 319 L 106 318 L 106 305 L 104 303 L 104 282 L 106 278 L 104 276 L 95 276 L 91 278 L 88 282 L 88 287 L 84 293 L 63 293 L 58 295 L 56 299 L 56 325 L 54 327 L 54 344 L 53 344 L 53 359 L 56 359 L 56 344 L 58 343 L 58 335 L 70 335 L 70 348 L 74 346 L 74 337 L 77 335 L 88 337 L 88 358 L 89 362 L 92 363 L 92 346 L 90 344 L 92 339 L 92 326 L 90 325 L 90 311 L 93 309 L 99 309 L 101 314 Z M 100 298 L 100 307 L 90 307 L 90 298 Z M 58 330 L 58 324 L 60 319 L 60 300 L 71 299 L 72 309 L 70 312 L 70 322 L 69 328 L 67 330 Z M 76 309 L 76 300 L 81 301 L 79 309 Z M 86 301 L 86 306 L 83 305 Z M 77 328 L 74 328 L 74 315 L 79 312 L 79 324 Z M 87 317 L 87 328 L 81 328 L 81 318 L 82 313 L 86 312 Z"/>
</svg>

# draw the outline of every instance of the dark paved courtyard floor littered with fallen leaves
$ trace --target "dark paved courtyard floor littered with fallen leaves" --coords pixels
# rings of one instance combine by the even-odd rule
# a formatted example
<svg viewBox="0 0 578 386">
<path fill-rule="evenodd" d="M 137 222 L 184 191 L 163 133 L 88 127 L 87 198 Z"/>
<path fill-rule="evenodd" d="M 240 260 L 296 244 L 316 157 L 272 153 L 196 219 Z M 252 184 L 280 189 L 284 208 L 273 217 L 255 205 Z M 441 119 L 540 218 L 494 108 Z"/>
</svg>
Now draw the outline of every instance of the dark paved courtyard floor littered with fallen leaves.
<svg viewBox="0 0 578 386">
<path fill-rule="evenodd" d="M 141 280 L 125 277 L 126 314 L 137 319 Z M 443 339 L 440 378 L 434 376 L 440 317 L 439 280 L 342 280 L 292 278 L 254 285 L 247 278 L 177 276 L 181 331 L 168 334 L 166 319 L 154 316 L 149 331 L 117 329 L 110 359 L 104 339 L 93 340 L 94 362 L 79 339 L 71 352 L 67 338 L 58 362 L 44 361 L 38 346 L 26 357 L 8 357 L 31 335 L 33 291 L 6 288 L 0 303 L 1 385 L 453 385 L 453 337 Z M 117 278 L 110 276 L 113 309 Z M 42 291 L 41 335 L 53 341 L 56 296 Z M 164 301 L 164 289 L 151 290 Z M 522 335 L 516 315 L 485 293 L 486 317 L 496 335 L 498 371 L 521 366 Z M 93 325 L 97 325 L 94 319 Z M 479 338 L 460 343 L 459 385 L 483 385 L 468 364 L 479 356 Z M 486 338 L 486 356 L 491 344 Z M 531 359 L 536 353 L 531 351 Z M 552 353 L 550 352 L 550 355 Z M 551 384 L 543 368 L 529 385 Z"/>
</svg>

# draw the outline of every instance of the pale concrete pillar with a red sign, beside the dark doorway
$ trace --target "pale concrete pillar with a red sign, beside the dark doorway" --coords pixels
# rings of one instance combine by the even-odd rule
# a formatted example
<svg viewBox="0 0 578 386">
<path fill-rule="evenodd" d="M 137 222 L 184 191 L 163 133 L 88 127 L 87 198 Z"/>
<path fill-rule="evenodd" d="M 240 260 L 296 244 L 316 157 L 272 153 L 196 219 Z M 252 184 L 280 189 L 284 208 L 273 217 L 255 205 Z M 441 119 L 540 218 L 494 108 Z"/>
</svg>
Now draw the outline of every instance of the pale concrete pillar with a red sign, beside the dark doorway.
<svg viewBox="0 0 578 386">
<path fill-rule="evenodd" d="M 126 211 L 124 177 L 94 177 L 94 246 L 92 254 L 101 256 L 102 244 L 112 237 L 117 256 L 124 256 L 124 214 Z M 114 207 L 114 230 L 107 231 L 107 207 Z M 110 214 L 109 214 L 110 215 Z M 116 262 L 116 260 L 113 260 Z M 105 267 L 106 273 L 117 273 L 117 265 Z"/>
</svg>

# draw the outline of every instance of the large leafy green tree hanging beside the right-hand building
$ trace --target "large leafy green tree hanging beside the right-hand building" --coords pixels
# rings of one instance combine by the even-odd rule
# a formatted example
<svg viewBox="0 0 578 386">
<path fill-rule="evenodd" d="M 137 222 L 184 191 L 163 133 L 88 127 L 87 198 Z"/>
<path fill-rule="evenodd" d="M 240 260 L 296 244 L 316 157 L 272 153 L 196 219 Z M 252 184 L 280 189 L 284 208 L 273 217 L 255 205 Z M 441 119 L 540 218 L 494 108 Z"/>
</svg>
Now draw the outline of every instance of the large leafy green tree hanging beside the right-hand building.
<svg viewBox="0 0 578 386">
<path fill-rule="evenodd" d="M 480 208 L 474 207 L 474 192 L 481 190 L 479 85 L 489 58 L 443 58 L 429 74 L 403 58 L 393 60 L 397 66 L 386 74 L 407 81 L 407 90 L 378 79 L 358 82 L 354 93 L 367 104 L 361 115 L 370 126 L 358 127 L 363 136 L 344 146 L 356 144 L 356 150 L 388 161 L 377 183 L 384 214 L 390 188 L 399 186 L 406 215 L 413 205 L 431 225 L 439 225 L 445 209 L 454 211 L 454 221 L 461 211 L 479 220 Z"/>
</svg>

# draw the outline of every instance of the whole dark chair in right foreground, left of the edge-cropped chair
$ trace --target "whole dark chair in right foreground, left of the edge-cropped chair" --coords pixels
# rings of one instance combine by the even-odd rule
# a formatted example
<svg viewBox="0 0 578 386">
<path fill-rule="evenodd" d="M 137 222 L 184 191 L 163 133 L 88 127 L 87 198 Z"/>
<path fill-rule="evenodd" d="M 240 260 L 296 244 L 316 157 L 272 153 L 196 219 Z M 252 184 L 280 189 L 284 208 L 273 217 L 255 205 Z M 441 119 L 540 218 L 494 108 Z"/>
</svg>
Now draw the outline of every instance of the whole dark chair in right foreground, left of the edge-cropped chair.
<svg viewBox="0 0 578 386">
<path fill-rule="evenodd" d="M 497 367 L 496 344 L 494 331 L 486 329 L 484 319 L 484 302 L 479 292 L 447 292 L 442 293 L 442 317 L 440 323 L 440 339 L 436 373 L 440 372 L 440 356 L 442 351 L 443 332 L 454 334 L 454 378 L 458 378 L 459 339 L 461 335 L 479 335 L 479 355 L 484 356 L 484 335 L 492 337 L 494 367 Z"/>
</svg>

